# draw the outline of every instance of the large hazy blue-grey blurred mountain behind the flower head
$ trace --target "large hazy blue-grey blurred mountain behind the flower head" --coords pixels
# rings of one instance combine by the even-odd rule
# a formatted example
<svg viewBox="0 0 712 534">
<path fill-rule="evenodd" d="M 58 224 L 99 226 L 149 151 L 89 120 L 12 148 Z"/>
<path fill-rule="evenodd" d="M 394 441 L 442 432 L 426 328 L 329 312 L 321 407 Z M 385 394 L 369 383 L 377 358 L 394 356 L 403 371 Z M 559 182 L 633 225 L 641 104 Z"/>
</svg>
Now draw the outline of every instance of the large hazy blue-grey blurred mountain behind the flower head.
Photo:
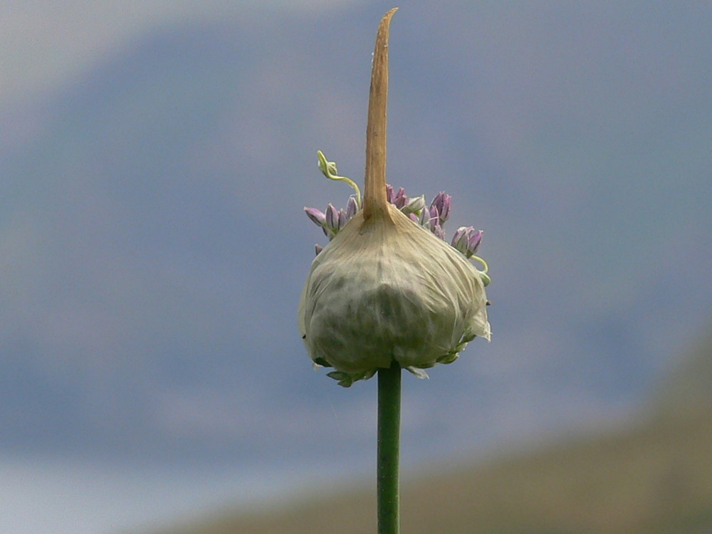
<svg viewBox="0 0 712 534">
<path fill-rule="evenodd" d="M 323 243 L 301 208 L 349 194 L 315 151 L 360 179 L 381 11 L 154 28 L 2 109 L 0 451 L 371 457 L 375 384 L 315 374 L 295 309 Z M 485 230 L 494 303 L 491 345 L 405 384 L 407 455 L 629 409 L 708 312 L 710 23 L 703 4 L 399 11 L 389 180 L 453 194 L 449 235 Z"/>
</svg>

